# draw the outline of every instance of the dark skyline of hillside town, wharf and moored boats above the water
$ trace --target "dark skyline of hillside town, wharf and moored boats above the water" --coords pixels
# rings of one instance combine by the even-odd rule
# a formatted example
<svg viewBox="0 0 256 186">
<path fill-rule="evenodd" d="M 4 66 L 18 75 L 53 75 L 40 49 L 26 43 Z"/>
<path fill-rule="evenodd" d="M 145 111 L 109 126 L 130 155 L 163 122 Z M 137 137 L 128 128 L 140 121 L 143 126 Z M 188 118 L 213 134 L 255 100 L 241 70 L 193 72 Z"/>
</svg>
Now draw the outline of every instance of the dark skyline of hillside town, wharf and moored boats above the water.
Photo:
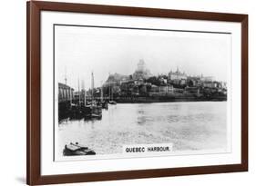
<svg viewBox="0 0 256 186">
<path fill-rule="evenodd" d="M 179 68 L 167 74 L 153 75 L 144 60 L 139 60 L 137 69 L 129 75 L 112 73 L 100 87 L 94 86 L 91 73 L 91 88 L 78 81 L 78 89 L 58 83 L 58 115 L 101 118 L 102 109 L 117 103 L 163 103 L 226 101 L 227 84 L 211 76 L 190 76 Z"/>
</svg>

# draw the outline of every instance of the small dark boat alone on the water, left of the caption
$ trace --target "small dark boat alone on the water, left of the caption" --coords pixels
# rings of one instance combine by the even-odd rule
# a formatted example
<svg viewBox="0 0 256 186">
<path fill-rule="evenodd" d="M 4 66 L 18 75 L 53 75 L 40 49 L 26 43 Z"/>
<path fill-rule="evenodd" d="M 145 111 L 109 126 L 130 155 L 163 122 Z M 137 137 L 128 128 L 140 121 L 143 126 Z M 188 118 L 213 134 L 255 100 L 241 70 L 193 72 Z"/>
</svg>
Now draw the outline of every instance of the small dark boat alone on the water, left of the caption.
<svg viewBox="0 0 256 186">
<path fill-rule="evenodd" d="M 63 150 L 65 156 L 76 156 L 76 155 L 96 155 L 96 152 L 89 149 L 88 147 L 79 145 L 78 142 L 66 144 Z"/>
</svg>

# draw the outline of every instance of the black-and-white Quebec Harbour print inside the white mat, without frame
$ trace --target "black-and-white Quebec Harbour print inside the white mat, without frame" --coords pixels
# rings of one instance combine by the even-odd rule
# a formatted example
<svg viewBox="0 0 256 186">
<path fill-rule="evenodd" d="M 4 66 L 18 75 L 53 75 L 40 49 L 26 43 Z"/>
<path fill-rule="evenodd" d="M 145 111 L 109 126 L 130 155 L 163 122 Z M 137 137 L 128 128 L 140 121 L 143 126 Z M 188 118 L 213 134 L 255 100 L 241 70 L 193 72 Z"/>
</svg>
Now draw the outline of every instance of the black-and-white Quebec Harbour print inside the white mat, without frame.
<svg viewBox="0 0 256 186">
<path fill-rule="evenodd" d="M 53 32 L 56 161 L 230 152 L 230 33 Z"/>
</svg>

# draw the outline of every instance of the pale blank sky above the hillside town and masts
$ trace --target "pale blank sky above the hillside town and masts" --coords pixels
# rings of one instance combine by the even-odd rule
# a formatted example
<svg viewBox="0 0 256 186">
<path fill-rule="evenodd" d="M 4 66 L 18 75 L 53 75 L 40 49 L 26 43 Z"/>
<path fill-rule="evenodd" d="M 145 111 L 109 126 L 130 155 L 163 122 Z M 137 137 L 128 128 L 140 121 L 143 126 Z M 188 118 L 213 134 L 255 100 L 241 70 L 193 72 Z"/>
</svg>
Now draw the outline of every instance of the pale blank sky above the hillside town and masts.
<svg viewBox="0 0 256 186">
<path fill-rule="evenodd" d="M 91 86 L 104 83 L 109 73 L 132 74 L 140 59 L 150 73 L 176 71 L 213 76 L 227 81 L 230 34 L 152 31 L 63 26 L 55 28 L 56 81 L 77 89 L 78 79 Z"/>
</svg>

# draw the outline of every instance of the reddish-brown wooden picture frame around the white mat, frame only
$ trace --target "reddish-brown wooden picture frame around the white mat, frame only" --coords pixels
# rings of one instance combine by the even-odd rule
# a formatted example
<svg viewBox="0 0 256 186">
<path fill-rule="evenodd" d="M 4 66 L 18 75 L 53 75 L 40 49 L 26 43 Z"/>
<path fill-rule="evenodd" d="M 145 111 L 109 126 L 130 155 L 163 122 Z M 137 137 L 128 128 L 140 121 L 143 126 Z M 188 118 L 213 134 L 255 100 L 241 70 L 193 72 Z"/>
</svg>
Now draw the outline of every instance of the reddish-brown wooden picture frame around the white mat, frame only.
<svg viewBox="0 0 256 186">
<path fill-rule="evenodd" d="M 81 181 L 110 181 L 152 177 L 248 171 L 248 15 L 167 10 L 109 5 L 84 5 L 30 1 L 26 5 L 26 181 L 27 184 L 52 184 Z M 136 171 L 106 171 L 62 175 L 41 175 L 41 12 L 87 13 L 139 17 L 177 18 L 241 24 L 241 163 Z M 50 63 L 50 62 L 49 62 Z"/>
</svg>

